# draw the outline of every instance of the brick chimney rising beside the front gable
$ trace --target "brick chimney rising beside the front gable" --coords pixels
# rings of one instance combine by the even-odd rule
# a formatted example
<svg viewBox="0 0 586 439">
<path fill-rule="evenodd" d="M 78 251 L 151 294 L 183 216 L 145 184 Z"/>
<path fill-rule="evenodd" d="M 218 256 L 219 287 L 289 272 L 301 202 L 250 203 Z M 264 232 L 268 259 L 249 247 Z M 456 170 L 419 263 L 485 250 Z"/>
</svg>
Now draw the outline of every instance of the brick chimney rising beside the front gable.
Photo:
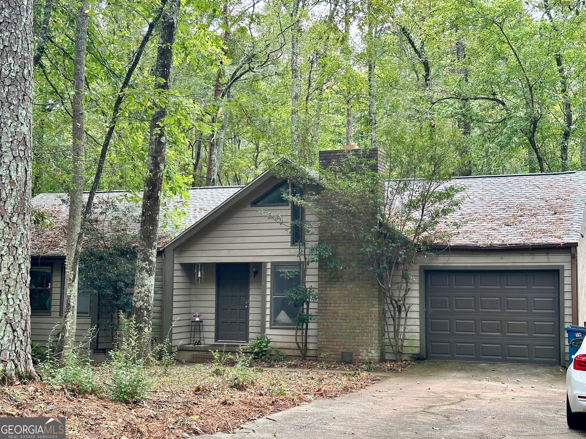
<svg viewBox="0 0 586 439">
<path fill-rule="evenodd" d="M 374 172 L 384 173 L 383 154 L 379 149 L 346 148 L 319 152 L 319 166 L 342 167 L 348 155 L 369 162 Z M 331 200 L 320 200 L 326 215 L 338 207 Z M 327 224 L 323 221 L 322 224 Z M 318 274 L 318 352 L 327 354 L 329 362 L 373 361 L 384 359 L 383 295 L 380 287 L 360 260 L 360 245 L 352 236 L 332 233 L 325 225 L 319 227 L 319 242 L 333 249 L 332 259 L 347 266 L 328 267 L 319 262 Z M 356 265 L 357 263 L 357 265 Z M 351 266 L 350 264 L 353 264 Z"/>
</svg>

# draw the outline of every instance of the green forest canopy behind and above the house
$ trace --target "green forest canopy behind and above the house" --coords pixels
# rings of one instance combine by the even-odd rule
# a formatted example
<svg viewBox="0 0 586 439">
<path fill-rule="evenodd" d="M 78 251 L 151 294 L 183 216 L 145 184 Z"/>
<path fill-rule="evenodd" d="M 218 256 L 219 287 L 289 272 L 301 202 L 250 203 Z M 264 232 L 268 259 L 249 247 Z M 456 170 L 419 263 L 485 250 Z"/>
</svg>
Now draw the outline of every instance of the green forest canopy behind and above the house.
<svg viewBox="0 0 586 439">
<path fill-rule="evenodd" d="M 586 169 L 582 6 L 187 0 L 172 88 L 154 87 L 156 28 L 124 91 L 99 188 L 142 189 L 149 122 L 161 102 L 163 196 L 246 184 L 281 157 L 316 166 L 318 150 L 346 144 L 398 155 L 439 150 L 454 176 Z M 90 4 L 86 189 L 158 8 L 156 0 Z M 71 187 L 76 13 L 74 3 L 35 4 L 33 195 Z"/>
</svg>

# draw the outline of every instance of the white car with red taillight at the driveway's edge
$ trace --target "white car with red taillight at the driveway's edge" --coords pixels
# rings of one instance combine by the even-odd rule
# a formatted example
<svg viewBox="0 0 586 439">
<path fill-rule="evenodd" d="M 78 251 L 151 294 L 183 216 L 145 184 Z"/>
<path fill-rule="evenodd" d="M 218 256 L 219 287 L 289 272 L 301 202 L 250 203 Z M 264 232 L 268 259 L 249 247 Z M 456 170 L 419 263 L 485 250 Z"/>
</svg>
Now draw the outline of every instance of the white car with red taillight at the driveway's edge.
<svg viewBox="0 0 586 439">
<path fill-rule="evenodd" d="M 575 430 L 586 430 L 586 343 L 583 338 L 574 338 L 571 345 L 580 346 L 574 355 L 574 361 L 565 374 L 567 397 L 565 413 L 568 427 Z"/>
</svg>

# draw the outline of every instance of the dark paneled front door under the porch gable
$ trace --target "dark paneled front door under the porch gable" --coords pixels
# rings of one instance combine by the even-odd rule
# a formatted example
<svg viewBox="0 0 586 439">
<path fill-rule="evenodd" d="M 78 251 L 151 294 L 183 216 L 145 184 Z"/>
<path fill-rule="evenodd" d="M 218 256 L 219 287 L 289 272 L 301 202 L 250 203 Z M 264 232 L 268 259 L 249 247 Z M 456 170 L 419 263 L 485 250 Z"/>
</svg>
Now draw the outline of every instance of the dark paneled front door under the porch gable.
<svg viewBox="0 0 586 439">
<path fill-rule="evenodd" d="M 216 341 L 248 342 L 250 265 L 216 264 Z"/>
</svg>

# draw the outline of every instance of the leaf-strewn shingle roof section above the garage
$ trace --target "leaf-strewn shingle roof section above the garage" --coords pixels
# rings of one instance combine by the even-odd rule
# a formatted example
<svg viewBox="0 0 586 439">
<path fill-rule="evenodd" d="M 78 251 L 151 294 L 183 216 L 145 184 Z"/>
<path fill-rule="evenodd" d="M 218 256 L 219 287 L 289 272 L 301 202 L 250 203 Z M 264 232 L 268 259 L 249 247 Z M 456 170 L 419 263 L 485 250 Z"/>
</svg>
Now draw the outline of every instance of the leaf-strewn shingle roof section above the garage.
<svg viewBox="0 0 586 439">
<path fill-rule="evenodd" d="M 440 226 L 454 234 L 436 244 L 563 246 L 581 238 L 586 172 L 459 177 L 449 184 L 464 188 L 464 200 Z"/>
</svg>

